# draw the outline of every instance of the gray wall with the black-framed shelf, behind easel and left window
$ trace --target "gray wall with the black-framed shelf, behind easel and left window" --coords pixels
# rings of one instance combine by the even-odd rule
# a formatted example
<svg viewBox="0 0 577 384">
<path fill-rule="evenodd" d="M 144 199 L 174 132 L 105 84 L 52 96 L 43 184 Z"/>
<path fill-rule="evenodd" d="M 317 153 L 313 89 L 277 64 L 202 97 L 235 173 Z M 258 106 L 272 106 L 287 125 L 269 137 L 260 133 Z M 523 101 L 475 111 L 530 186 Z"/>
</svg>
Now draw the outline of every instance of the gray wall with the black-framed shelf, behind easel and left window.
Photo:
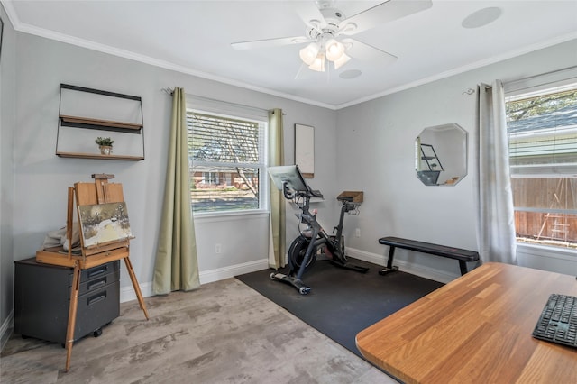
<svg viewBox="0 0 577 384">
<path fill-rule="evenodd" d="M 150 294 L 154 255 L 165 179 L 171 97 L 164 87 L 184 87 L 195 96 L 250 105 L 265 110 L 279 107 L 285 115 L 286 160 L 293 161 L 294 123 L 316 127 L 318 145 L 336 144 L 334 111 L 195 78 L 167 69 L 121 59 L 93 50 L 17 34 L 17 122 L 14 132 L 15 188 L 14 260 L 32 257 L 45 233 L 65 224 L 67 188 L 77 181 L 90 182 L 93 173 L 111 173 L 124 186 L 124 197 L 136 239 L 131 261 L 143 292 Z M 142 161 L 76 160 L 54 155 L 58 126 L 60 83 L 94 87 L 142 96 L 145 154 Z M 330 145 L 330 144 L 329 144 Z M 321 152 L 321 151 L 319 151 Z M 329 197 L 334 190 L 334 151 L 317 159 L 316 187 Z M 334 198 L 334 197 L 333 197 Z M 326 204 L 332 207 L 332 203 Z M 292 216 L 292 215 L 291 215 Z M 294 218 L 294 216 L 292 216 Z M 291 221 L 293 232 L 296 218 Z M 266 267 L 268 217 L 234 216 L 197 220 L 201 282 L 231 275 L 231 267 Z M 247 240 L 250 239 L 250 240 Z M 222 253 L 215 253 L 220 243 Z M 234 270 L 236 273 L 239 270 Z M 124 272 L 123 272 L 124 273 Z M 203 277 L 205 279 L 203 279 Z M 121 289 L 131 297 L 127 275 Z"/>
</svg>

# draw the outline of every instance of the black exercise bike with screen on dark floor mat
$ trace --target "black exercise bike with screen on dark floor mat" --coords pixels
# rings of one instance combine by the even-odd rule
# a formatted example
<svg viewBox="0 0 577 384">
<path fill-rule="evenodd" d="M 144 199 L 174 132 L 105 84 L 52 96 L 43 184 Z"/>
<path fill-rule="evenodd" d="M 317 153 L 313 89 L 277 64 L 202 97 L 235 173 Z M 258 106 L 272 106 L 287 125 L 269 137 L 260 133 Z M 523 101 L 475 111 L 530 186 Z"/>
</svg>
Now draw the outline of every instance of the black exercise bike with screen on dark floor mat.
<svg viewBox="0 0 577 384">
<path fill-rule="evenodd" d="M 326 233 L 321 224 L 316 221 L 316 210 L 312 213 L 309 210 L 311 197 L 322 198 L 323 195 L 320 191 L 308 187 L 298 166 L 270 167 L 269 173 L 276 186 L 282 190 L 284 197 L 292 200 L 301 211 L 296 214 L 299 218 L 300 235 L 289 247 L 289 274 L 273 272 L 270 274 L 270 279 L 288 283 L 297 288 L 301 295 L 307 295 L 311 288 L 303 282 L 302 277 L 315 263 L 318 250 L 321 250 L 326 259 L 338 267 L 362 273 L 369 270 L 348 262 L 344 253 L 343 220 L 345 213 L 357 209 L 357 204 L 353 203 L 353 197 L 337 197 L 343 206 L 341 206 L 339 224 L 334 227 L 334 234 L 331 235 Z M 306 224 L 306 228 L 301 230 L 301 224 Z"/>
</svg>

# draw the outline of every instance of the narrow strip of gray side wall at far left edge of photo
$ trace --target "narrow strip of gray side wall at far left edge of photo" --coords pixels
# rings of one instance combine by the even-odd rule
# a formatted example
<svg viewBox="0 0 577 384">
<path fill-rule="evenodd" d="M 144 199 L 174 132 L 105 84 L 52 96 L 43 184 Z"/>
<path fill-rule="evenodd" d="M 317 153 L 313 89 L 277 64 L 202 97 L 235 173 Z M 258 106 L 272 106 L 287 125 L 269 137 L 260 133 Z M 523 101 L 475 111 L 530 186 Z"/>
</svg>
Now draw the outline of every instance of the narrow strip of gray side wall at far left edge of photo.
<svg viewBox="0 0 577 384">
<path fill-rule="evenodd" d="M 0 346 L 4 345 L 14 307 L 14 161 L 15 32 L 0 5 L 4 21 L 0 57 Z"/>
</svg>

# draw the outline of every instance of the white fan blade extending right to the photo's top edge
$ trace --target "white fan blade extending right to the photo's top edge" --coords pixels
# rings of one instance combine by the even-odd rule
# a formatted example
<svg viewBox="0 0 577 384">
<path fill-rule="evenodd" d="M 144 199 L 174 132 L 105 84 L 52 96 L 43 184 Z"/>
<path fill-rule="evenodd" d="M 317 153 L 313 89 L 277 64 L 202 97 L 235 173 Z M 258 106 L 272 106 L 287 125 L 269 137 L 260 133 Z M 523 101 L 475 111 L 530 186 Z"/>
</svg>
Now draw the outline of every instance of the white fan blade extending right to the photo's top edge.
<svg viewBox="0 0 577 384">
<path fill-rule="evenodd" d="M 343 20 L 339 23 L 339 29 L 343 30 L 343 34 L 353 35 L 409 14 L 416 14 L 431 6 L 433 6 L 431 0 L 389 0 Z M 347 29 L 346 26 L 349 23 L 355 24 L 356 28 Z"/>
</svg>

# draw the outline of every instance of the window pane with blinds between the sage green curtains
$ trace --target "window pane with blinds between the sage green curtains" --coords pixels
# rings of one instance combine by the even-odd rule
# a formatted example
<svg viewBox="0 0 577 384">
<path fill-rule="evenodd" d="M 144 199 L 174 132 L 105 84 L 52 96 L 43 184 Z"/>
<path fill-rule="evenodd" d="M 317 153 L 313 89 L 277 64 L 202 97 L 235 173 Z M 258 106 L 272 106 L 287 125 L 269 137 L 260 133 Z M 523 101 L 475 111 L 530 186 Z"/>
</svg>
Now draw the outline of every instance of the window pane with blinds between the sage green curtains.
<svg viewBox="0 0 577 384">
<path fill-rule="evenodd" d="M 265 209 L 266 120 L 189 109 L 187 125 L 193 212 Z"/>
</svg>

